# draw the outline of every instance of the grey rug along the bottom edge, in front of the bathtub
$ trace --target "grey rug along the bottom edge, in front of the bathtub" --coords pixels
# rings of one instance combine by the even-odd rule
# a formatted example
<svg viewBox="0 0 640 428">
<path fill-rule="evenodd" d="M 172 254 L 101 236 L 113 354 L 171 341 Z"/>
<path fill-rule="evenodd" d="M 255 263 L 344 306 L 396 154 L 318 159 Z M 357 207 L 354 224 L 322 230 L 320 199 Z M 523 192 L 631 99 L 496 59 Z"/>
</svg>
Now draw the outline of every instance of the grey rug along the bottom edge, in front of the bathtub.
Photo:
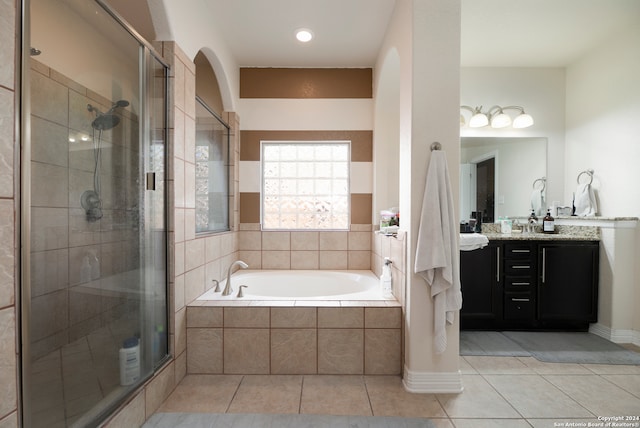
<svg viewBox="0 0 640 428">
<path fill-rule="evenodd" d="M 435 428 L 429 419 L 392 416 L 156 413 L 142 428 Z"/>
</svg>

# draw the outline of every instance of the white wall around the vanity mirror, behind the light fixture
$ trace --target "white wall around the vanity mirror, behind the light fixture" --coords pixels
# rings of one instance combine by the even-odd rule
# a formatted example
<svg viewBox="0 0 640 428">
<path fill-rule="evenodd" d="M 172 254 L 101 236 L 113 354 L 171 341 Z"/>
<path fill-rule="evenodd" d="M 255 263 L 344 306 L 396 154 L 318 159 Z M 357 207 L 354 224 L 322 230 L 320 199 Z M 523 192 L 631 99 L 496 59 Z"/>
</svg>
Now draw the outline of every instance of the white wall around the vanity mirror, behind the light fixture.
<svg viewBox="0 0 640 428">
<path fill-rule="evenodd" d="M 547 201 L 571 205 L 564 197 L 565 71 L 563 68 L 465 67 L 460 74 L 460 104 L 483 106 L 518 105 L 533 116 L 534 125 L 524 129 L 460 129 L 463 137 L 546 137 Z M 468 120 L 467 115 L 467 120 Z M 527 182 L 527 188 L 531 183 Z"/>
</svg>

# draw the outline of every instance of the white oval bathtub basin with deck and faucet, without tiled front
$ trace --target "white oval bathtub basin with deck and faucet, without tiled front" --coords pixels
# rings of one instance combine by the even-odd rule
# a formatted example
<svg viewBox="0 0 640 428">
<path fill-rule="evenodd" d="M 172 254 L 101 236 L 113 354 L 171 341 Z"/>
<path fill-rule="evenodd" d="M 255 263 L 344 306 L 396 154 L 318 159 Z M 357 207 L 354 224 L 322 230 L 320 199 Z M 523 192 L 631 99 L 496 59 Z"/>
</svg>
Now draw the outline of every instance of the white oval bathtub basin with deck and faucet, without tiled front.
<svg viewBox="0 0 640 428">
<path fill-rule="evenodd" d="M 226 281 L 220 282 L 220 290 Z M 246 285 L 238 298 L 241 285 Z M 239 270 L 231 276 L 233 293 L 210 289 L 197 300 L 393 300 L 382 296 L 371 271 Z"/>
</svg>

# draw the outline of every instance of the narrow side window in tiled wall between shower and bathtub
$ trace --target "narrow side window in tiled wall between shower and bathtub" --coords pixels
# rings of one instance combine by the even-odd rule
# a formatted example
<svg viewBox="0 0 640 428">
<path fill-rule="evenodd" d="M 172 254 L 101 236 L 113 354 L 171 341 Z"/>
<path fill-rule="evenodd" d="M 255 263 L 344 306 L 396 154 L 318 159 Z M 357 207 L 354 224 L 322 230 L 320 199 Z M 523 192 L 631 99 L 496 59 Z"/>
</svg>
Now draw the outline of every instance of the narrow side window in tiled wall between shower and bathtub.
<svg viewBox="0 0 640 428">
<path fill-rule="evenodd" d="M 229 230 L 229 126 L 196 97 L 196 233 Z"/>
</svg>

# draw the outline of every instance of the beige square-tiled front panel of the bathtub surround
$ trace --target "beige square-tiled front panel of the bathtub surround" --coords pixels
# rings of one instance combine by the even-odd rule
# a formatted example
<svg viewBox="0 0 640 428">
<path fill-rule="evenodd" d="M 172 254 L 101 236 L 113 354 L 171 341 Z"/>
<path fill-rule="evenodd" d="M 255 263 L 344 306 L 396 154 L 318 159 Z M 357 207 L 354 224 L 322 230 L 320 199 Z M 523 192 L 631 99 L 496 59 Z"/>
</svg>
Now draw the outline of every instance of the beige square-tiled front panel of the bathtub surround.
<svg viewBox="0 0 640 428">
<path fill-rule="evenodd" d="M 399 375 L 401 369 L 397 302 L 196 301 L 187 307 L 188 374 Z"/>
</svg>

